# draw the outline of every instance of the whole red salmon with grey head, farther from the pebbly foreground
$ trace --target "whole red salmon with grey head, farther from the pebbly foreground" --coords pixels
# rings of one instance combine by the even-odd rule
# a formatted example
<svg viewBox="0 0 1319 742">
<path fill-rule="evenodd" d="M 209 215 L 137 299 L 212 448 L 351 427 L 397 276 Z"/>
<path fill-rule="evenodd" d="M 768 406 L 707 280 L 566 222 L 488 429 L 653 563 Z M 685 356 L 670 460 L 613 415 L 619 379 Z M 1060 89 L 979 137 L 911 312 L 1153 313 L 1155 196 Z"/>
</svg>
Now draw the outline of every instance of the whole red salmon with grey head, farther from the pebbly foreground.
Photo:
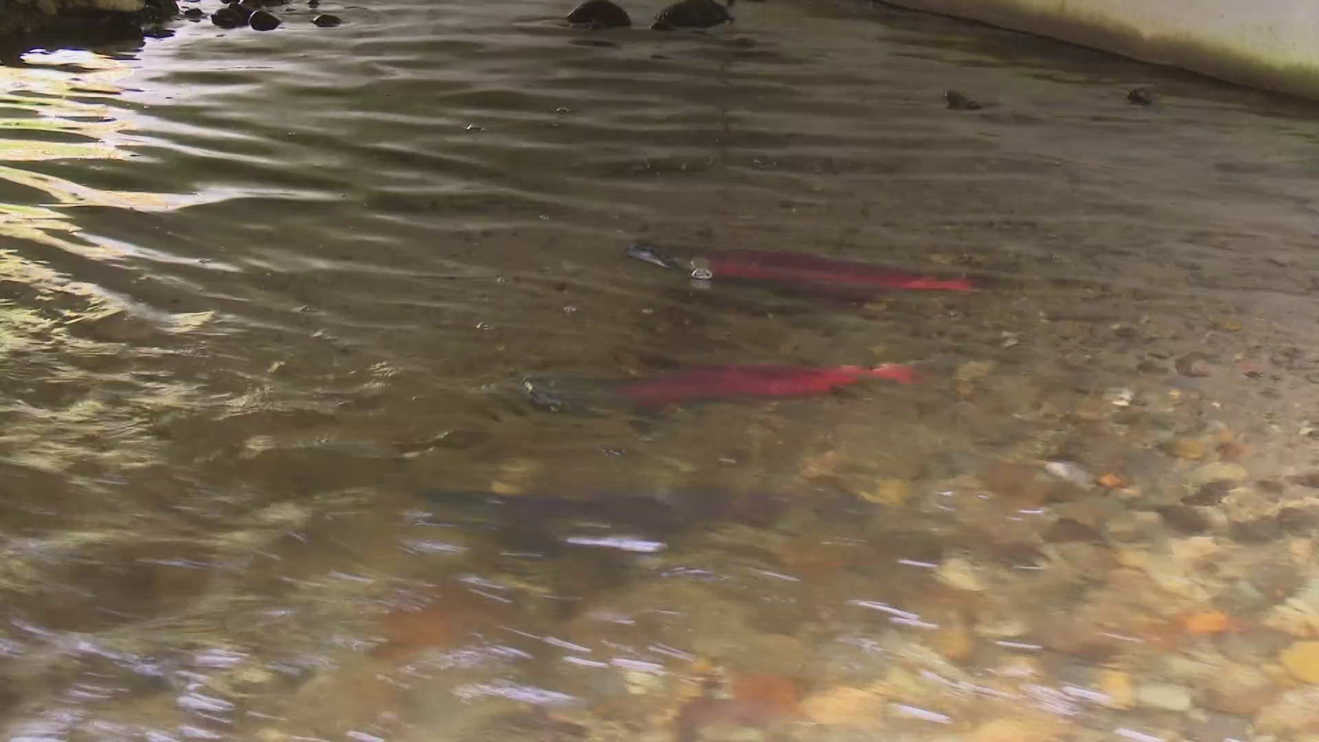
<svg viewBox="0 0 1319 742">
<path fill-rule="evenodd" d="M 975 290 L 969 279 L 936 279 L 869 263 L 836 260 L 801 252 L 724 250 L 700 256 L 679 257 L 645 243 L 633 244 L 627 252 L 638 260 L 661 268 L 683 271 L 699 280 L 732 279 L 785 288 L 842 288 L 852 292 Z"/>
</svg>

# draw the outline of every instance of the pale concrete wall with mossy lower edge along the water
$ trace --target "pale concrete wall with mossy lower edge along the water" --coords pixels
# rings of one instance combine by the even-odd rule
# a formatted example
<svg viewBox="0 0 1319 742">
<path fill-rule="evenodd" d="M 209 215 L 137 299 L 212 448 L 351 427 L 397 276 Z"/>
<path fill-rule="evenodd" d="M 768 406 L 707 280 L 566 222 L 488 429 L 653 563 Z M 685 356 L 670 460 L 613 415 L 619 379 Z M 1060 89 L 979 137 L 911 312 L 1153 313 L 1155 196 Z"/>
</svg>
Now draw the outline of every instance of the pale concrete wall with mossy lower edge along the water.
<svg viewBox="0 0 1319 742">
<path fill-rule="evenodd" d="M 1319 98 L 1319 0 L 888 0 Z"/>
</svg>

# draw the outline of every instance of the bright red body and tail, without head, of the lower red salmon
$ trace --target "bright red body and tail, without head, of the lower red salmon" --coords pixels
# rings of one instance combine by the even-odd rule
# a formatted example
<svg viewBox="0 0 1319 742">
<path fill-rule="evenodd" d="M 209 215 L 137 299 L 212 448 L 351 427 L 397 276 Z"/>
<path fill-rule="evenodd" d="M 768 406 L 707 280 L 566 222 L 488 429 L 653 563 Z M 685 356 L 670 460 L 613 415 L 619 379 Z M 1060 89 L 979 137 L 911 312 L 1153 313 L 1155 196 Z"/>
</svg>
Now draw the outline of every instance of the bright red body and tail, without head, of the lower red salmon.
<svg viewBox="0 0 1319 742">
<path fill-rule="evenodd" d="M 886 363 L 874 368 L 836 366 L 707 366 L 675 371 L 637 382 L 627 382 L 617 391 L 644 407 L 665 407 L 683 401 L 727 397 L 795 397 L 822 395 L 861 379 L 889 379 L 901 384 L 919 380 L 910 366 Z"/>
</svg>

